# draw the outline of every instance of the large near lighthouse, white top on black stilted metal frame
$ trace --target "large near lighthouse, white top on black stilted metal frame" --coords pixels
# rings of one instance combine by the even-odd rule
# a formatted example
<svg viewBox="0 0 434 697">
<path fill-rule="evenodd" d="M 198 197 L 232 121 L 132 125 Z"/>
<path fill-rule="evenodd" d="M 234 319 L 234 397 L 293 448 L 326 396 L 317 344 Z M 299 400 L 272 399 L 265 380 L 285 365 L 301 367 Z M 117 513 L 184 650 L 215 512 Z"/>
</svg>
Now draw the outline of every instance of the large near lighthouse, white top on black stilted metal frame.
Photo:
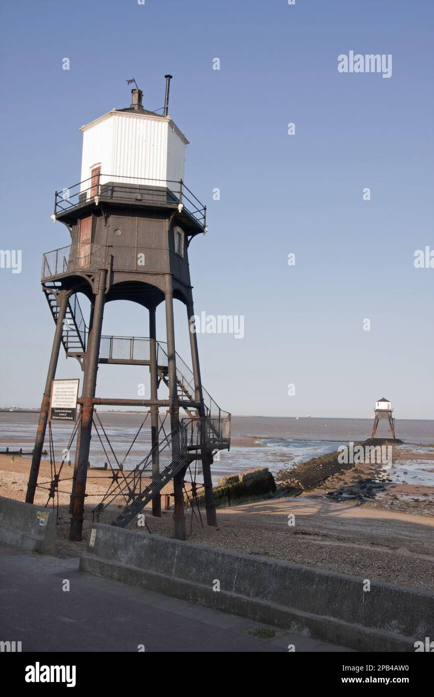
<svg viewBox="0 0 434 697">
<path fill-rule="evenodd" d="M 208 525 L 216 526 L 212 493 L 212 453 L 228 449 L 231 415 L 222 411 L 201 382 L 196 333 L 189 331 L 190 368 L 176 352 L 173 304 L 194 323 L 189 245 L 206 231 L 206 206 L 184 181 L 188 140 L 169 116 L 166 75 L 164 113 L 143 106 L 143 93 L 132 89 L 129 107 L 111 109 L 83 125 L 79 183 L 54 194 L 54 220 L 69 233 L 63 246 L 42 256 L 42 291 L 56 323 L 26 501 L 33 503 L 40 457 L 49 422 L 49 401 L 61 346 L 83 371 L 77 445 L 71 493 L 70 539 L 82 539 L 89 447 L 95 405 L 148 407 L 151 449 L 130 473 L 114 473 L 94 519 L 125 526 L 152 502 L 161 515 L 160 491 L 173 481 L 174 525 L 185 539 L 183 479 L 194 460 L 201 461 Z M 203 240 L 201 236 L 201 240 Z M 90 301 L 88 316 L 79 298 Z M 107 302 L 128 300 L 144 310 L 138 336 L 102 333 Z M 164 304 L 165 342 L 157 339 L 155 312 Z M 148 337 L 142 327 L 148 325 Z M 108 395 L 95 398 L 98 365 L 143 365 L 150 374 L 149 399 Z M 162 389 L 169 395 L 161 395 Z M 169 432 L 160 426 L 170 415 Z M 59 480 L 52 482 L 55 493 Z M 105 517 L 104 517 L 105 516 Z M 109 516 L 109 517 L 107 517 Z M 111 519 L 110 519 L 111 516 Z"/>
</svg>

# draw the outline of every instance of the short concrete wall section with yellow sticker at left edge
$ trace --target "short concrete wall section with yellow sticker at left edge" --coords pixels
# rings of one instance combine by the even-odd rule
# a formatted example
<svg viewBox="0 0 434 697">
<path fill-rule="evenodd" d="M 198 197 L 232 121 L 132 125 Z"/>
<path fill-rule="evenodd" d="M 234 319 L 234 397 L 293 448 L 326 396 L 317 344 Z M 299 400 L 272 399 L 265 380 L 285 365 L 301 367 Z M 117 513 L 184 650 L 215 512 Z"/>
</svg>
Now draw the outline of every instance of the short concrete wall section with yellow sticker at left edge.
<svg viewBox="0 0 434 697">
<path fill-rule="evenodd" d="M 56 512 L 0 496 L 0 542 L 29 552 L 54 553 Z"/>
</svg>

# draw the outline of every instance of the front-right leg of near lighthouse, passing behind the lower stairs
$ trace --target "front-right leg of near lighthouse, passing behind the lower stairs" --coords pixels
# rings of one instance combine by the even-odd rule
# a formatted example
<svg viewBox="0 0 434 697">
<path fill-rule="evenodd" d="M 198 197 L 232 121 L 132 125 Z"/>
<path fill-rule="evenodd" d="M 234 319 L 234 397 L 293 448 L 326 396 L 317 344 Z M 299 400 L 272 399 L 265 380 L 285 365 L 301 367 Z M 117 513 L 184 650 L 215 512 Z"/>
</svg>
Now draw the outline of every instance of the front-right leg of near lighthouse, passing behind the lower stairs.
<svg viewBox="0 0 434 697">
<path fill-rule="evenodd" d="M 171 284 L 171 278 L 169 278 Z M 176 353 L 175 353 L 175 323 L 173 321 L 173 290 L 164 293 L 166 305 L 166 336 L 167 336 L 167 355 L 169 357 L 169 412 L 171 431 L 179 427 L 179 399 L 178 386 L 176 383 Z M 179 439 L 173 438 L 172 456 L 176 457 L 179 452 Z M 187 464 L 187 463 L 186 463 Z M 185 514 L 184 514 L 184 493 L 183 493 L 183 470 L 173 477 L 173 496 L 175 499 L 175 512 L 173 522 L 175 524 L 176 539 L 185 539 Z"/>
</svg>

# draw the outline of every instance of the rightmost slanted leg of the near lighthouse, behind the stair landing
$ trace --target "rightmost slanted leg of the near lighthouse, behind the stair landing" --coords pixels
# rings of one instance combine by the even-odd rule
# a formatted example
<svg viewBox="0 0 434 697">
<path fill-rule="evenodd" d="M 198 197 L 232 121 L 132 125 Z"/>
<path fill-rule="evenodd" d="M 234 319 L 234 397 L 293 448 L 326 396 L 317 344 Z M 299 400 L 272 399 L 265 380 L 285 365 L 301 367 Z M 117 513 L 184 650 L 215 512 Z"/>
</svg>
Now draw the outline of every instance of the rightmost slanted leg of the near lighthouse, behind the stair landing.
<svg viewBox="0 0 434 697">
<path fill-rule="evenodd" d="M 200 401 L 201 407 L 199 408 L 199 416 L 204 418 L 206 415 L 205 406 L 203 404 L 203 392 L 201 383 L 201 369 L 199 366 L 199 351 L 197 348 L 197 335 L 195 331 L 192 331 L 193 321 L 194 321 L 194 305 L 192 302 L 187 304 L 187 317 L 188 317 L 188 329 L 190 335 L 190 350 L 192 353 L 192 367 L 194 375 L 194 399 Z M 204 434 L 206 429 L 201 429 L 201 433 Z M 212 477 L 211 477 L 211 465 L 212 465 L 212 452 L 206 449 L 201 450 L 202 456 L 202 472 L 203 472 L 203 487 L 205 490 L 205 508 L 206 508 L 206 522 L 209 526 L 217 528 L 217 512 L 215 508 L 214 491 L 212 490 Z"/>
</svg>

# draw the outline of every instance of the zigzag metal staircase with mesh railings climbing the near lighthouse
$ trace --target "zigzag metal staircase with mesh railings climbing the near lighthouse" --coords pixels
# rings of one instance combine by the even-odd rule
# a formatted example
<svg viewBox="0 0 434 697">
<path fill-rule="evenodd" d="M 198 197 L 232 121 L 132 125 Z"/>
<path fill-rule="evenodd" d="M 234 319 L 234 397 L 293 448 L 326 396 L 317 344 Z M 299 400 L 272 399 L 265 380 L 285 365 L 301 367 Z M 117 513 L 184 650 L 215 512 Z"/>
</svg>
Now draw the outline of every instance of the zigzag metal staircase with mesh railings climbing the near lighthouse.
<svg viewBox="0 0 434 697">
<path fill-rule="evenodd" d="M 59 287 L 56 284 L 42 286 L 55 322 L 59 316 L 56 299 Z M 88 327 L 77 295 L 73 295 L 63 323 L 62 343 L 66 355 L 82 363 L 87 340 Z M 103 336 L 99 362 L 150 365 L 150 339 Z M 160 381 L 169 387 L 169 357 L 164 342 L 157 342 L 157 372 Z M 194 375 L 178 353 L 176 383 L 180 399 L 195 401 Z M 201 459 L 203 452 L 229 449 L 231 415 L 222 411 L 203 387 L 202 393 L 205 416 L 183 407 L 189 418 L 182 420 L 178 429 L 162 438 L 133 470 L 114 474 L 109 491 L 93 510 L 94 520 L 126 526 L 180 470 Z"/>
</svg>

